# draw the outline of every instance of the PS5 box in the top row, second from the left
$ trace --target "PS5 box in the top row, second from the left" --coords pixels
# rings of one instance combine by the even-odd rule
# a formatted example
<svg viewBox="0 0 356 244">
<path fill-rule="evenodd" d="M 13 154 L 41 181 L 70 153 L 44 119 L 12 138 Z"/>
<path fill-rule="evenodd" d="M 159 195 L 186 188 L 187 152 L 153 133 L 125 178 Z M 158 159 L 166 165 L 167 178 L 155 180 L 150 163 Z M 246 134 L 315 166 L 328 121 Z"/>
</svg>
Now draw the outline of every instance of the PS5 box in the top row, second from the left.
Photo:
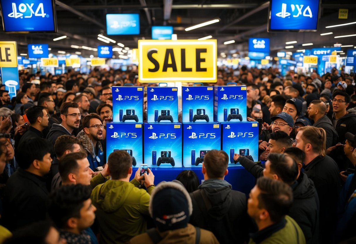
<svg viewBox="0 0 356 244">
<path fill-rule="evenodd" d="M 178 122 L 177 87 L 147 87 L 147 122 Z"/>
</svg>

